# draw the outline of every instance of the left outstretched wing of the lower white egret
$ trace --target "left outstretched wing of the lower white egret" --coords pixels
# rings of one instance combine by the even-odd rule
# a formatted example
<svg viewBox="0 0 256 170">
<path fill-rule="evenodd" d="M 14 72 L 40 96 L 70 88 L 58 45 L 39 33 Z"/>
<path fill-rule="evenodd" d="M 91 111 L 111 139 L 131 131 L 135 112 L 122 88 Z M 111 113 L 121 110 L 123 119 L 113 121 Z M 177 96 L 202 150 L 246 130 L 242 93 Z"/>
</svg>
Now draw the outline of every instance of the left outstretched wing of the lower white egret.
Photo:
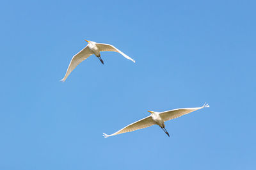
<svg viewBox="0 0 256 170">
<path fill-rule="evenodd" d="M 141 128 L 146 128 L 146 127 L 151 127 L 152 125 L 155 125 L 156 123 L 152 120 L 151 116 L 147 116 L 146 118 L 143 118 L 142 120 L 135 121 L 134 123 L 131 123 L 130 125 L 122 128 L 121 130 L 118 130 L 114 134 L 107 135 L 103 133 L 103 136 L 105 138 L 112 136 L 112 135 L 118 135 L 118 134 L 123 134 L 126 132 L 132 132 L 134 130 L 138 130 Z"/>
</svg>

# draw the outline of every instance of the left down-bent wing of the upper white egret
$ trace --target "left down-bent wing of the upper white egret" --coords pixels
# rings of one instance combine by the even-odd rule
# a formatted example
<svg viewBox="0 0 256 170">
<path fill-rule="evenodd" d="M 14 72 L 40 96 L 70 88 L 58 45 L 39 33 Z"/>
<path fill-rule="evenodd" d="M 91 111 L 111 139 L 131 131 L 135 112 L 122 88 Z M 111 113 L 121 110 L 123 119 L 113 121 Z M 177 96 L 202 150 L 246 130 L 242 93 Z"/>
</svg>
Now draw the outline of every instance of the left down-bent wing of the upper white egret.
<svg viewBox="0 0 256 170">
<path fill-rule="evenodd" d="M 76 68 L 77 65 L 79 65 L 82 61 L 84 61 L 84 59 L 92 56 L 92 52 L 90 51 L 88 45 L 86 47 L 84 47 L 83 50 L 81 50 L 80 52 L 78 52 L 75 56 L 73 56 L 73 58 L 71 59 L 69 65 L 68 65 L 68 69 L 67 72 L 65 74 L 65 76 L 63 77 L 63 79 L 61 79 L 62 82 L 64 82 L 68 75 Z"/>
</svg>

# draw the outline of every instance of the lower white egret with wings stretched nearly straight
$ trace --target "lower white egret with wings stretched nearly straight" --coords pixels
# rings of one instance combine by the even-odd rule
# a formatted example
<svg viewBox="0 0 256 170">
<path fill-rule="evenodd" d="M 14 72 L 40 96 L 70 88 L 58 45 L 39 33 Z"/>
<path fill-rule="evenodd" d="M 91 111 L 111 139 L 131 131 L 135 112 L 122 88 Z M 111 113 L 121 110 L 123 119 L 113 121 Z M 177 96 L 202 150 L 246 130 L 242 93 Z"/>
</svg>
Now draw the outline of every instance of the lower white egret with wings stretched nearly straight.
<svg viewBox="0 0 256 170">
<path fill-rule="evenodd" d="M 122 128 L 121 130 L 118 130 L 114 134 L 107 135 L 107 134 L 103 133 L 103 136 L 105 138 L 107 138 L 112 135 L 118 135 L 118 134 L 123 134 L 126 132 L 132 132 L 134 130 L 138 130 L 141 128 L 151 127 L 152 125 L 159 125 L 159 127 L 161 127 L 164 130 L 164 132 L 170 137 L 167 130 L 165 129 L 164 121 L 179 118 L 180 116 L 183 116 L 184 114 L 188 114 L 189 112 L 203 109 L 204 107 L 210 107 L 210 106 L 209 106 L 209 104 L 204 104 L 202 107 L 174 109 L 171 111 L 164 111 L 164 112 L 148 111 L 151 113 L 150 116 L 147 116 L 146 118 L 143 118 L 142 120 L 136 121 L 134 123 L 131 123 L 130 125 Z"/>
</svg>

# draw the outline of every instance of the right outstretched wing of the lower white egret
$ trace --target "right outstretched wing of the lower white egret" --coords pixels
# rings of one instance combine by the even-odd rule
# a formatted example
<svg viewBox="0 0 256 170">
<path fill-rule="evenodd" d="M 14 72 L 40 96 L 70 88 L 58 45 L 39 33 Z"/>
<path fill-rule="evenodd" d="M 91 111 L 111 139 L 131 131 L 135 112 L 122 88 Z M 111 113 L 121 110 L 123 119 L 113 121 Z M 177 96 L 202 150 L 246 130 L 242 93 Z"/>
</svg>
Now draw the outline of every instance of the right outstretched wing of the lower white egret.
<svg viewBox="0 0 256 170">
<path fill-rule="evenodd" d="M 209 106 L 209 104 L 204 104 L 202 107 L 174 109 L 171 111 L 161 112 L 161 113 L 159 113 L 159 116 L 163 119 L 163 121 L 168 121 L 168 120 L 173 120 L 175 118 L 179 118 L 180 116 L 183 116 L 184 114 L 189 114 L 189 112 L 203 109 L 204 107 L 210 107 L 210 106 Z"/>
</svg>

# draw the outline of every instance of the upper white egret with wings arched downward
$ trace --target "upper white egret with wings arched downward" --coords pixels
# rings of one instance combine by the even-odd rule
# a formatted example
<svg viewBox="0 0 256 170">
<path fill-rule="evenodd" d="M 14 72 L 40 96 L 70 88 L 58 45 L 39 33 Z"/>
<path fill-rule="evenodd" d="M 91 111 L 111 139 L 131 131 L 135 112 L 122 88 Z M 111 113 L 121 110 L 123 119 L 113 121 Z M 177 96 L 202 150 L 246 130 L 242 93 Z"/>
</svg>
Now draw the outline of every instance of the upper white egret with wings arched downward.
<svg viewBox="0 0 256 170">
<path fill-rule="evenodd" d="M 86 45 L 86 47 L 84 47 L 83 50 L 81 50 L 75 56 L 73 56 L 73 58 L 71 59 L 68 65 L 68 69 L 65 76 L 63 77 L 63 79 L 61 79 L 62 82 L 64 82 L 67 79 L 68 75 L 76 68 L 77 65 L 79 65 L 82 61 L 84 61 L 84 59 L 92 56 L 92 54 L 95 54 L 95 56 L 99 58 L 101 63 L 104 65 L 103 60 L 100 58 L 100 51 L 118 52 L 122 54 L 125 58 L 130 59 L 135 63 L 134 59 L 130 58 L 129 56 L 124 54 L 122 51 L 116 49 L 116 47 L 114 47 L 113 45 L 106 44 L 106 43 L 91 42 L 88 40 L 85 40 L 85 41 L 88 42 L 88 45 Z"/>
</svg>

